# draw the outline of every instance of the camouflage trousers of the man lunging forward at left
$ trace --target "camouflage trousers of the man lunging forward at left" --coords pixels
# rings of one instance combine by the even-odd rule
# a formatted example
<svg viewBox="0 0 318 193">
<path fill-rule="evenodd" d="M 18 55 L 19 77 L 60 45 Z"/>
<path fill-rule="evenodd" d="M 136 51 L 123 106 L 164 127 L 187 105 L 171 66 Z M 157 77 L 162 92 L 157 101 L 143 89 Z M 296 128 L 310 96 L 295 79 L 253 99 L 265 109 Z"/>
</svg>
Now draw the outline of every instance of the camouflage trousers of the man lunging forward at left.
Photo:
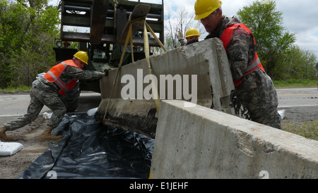
<svg viewBox="0 0 318 193">
<path fill-rule="evenodd" d="M 51 118 L 47 122 L 47 125 L 54 128 L 61 123 L 61 120 L 64 118 L 66 113 L 66 107 L 61 101 L 59 94 L 48 89 L 39 89 L 33 85 L 30 92 L 30 97 L 31 100 L 28 106 L 28 112 L 16 120 L 5 123 L 4 127 L 6 127 L 7 130 L 16 130 L 20 127 L 28 125 L 29 123 L 32 123 L 33 120 L 35 120 L 39 115 L 43 106 L 47 106 L 53 111 Z"/>
</svg>

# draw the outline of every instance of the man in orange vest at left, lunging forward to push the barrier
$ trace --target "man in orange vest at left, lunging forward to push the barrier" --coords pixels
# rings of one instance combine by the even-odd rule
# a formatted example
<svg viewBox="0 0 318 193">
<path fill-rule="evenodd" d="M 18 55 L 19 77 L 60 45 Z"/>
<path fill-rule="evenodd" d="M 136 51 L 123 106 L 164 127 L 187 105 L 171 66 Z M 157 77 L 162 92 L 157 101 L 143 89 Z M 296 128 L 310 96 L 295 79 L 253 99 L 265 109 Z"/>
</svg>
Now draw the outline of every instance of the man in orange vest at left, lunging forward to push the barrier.
<svg viewBox="0 0 318 193">
<path fill-rule="evenodd" d="M 53 113 L 47 127 L 40 135 L 40 141 L 56 141 L 62 136 L 52 135 L 52 130 L 57 127 L 66 113 L 66 107 L 61 101 L 61 96 L 72 89 L 78 80 L 97 80 L 105 76 L 105 73 L 83 70 L 88 63 L 88 54 L 78 51 L 72 60 L 62 61 L 52 67 L 43 77 L 33 82 L 30 91 L 30 104 L 28 112 L 10 123 L 0 127 L 0 140 L 12 141 L 13 137 L 6 135 L 7 130 L 16 130 L 32 123 L 39 115 L 43 106 L 50 108 Z"/>
</svg>

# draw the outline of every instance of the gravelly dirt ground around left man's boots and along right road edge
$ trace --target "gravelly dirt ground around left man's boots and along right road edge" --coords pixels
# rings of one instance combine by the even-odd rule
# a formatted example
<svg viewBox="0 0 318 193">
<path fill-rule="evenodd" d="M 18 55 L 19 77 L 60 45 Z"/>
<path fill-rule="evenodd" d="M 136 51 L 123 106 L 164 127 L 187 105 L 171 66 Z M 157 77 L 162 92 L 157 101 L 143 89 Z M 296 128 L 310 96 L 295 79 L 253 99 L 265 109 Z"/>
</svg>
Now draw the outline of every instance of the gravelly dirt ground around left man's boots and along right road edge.
<svg viewBox="0 0 318 193">
<path fill-rule="evenodd" d="M 305 122 L 318 120 L 317 107 L 284 108 L 283 122 Z M 282 110 L 282 109 L 279 109 Z M 0 117 L 0 125 L 12 120 L 12 117 Z M 0 179 L 16 179 L 33 161 L 47 149 L 49 142 L 40 142 L 40 134 L 45 130 L 47 120 L 39 116 L 33 123 L 18 130 L 8 131 L 7 135 L 14 138 L 14 142 L 23 144 L 17 154 L 0 156 Z"/>
</svg>

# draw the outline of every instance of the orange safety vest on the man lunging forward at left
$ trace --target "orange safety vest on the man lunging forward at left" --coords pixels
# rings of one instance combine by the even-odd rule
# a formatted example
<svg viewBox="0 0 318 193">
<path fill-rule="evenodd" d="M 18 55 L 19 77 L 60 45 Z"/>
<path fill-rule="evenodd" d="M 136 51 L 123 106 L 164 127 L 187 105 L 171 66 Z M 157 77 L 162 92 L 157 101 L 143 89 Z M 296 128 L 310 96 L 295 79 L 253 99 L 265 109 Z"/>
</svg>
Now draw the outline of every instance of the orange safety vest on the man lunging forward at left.
<svg viewBox="0 0 318 193">
<path fill-rule="evenodd" d="M 63 61 L 53 68 L 49 69 L 49 71 L 44 75 L 47 81 L 55 82 L 61 88 L 59 90 L 59 94 L 61 94 L 61 96 L 72 89 L 76 85 L 76 82 L 78 80 L 78 78 L 73 78 L 73 80 L 71 80 L 70 82 L 65 83 L 59 79 L 59 76 L 61 75 L 61 73 L 63 73 L 66 66 L 75 66 L 79 68 L 72 60 Z"/>
</svg>

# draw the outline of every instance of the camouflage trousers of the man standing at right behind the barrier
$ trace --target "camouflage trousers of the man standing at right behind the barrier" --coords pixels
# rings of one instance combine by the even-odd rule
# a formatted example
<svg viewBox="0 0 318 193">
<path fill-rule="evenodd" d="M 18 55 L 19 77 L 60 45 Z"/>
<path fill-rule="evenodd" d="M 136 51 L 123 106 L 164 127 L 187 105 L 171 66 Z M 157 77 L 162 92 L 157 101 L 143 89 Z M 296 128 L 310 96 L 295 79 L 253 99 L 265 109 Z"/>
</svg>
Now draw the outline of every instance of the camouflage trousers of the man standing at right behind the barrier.
<svg viewBox="0 0 318 193">
<path fill-rule="evenodd" d="M 242 82 L 235 87 L 235 94 L 241 104 L 248 109 L 252 121 L 281 130 L 276 89 L 266 73 L 261 77 L 253 78 L 248 84 Z"/>
</svg>

